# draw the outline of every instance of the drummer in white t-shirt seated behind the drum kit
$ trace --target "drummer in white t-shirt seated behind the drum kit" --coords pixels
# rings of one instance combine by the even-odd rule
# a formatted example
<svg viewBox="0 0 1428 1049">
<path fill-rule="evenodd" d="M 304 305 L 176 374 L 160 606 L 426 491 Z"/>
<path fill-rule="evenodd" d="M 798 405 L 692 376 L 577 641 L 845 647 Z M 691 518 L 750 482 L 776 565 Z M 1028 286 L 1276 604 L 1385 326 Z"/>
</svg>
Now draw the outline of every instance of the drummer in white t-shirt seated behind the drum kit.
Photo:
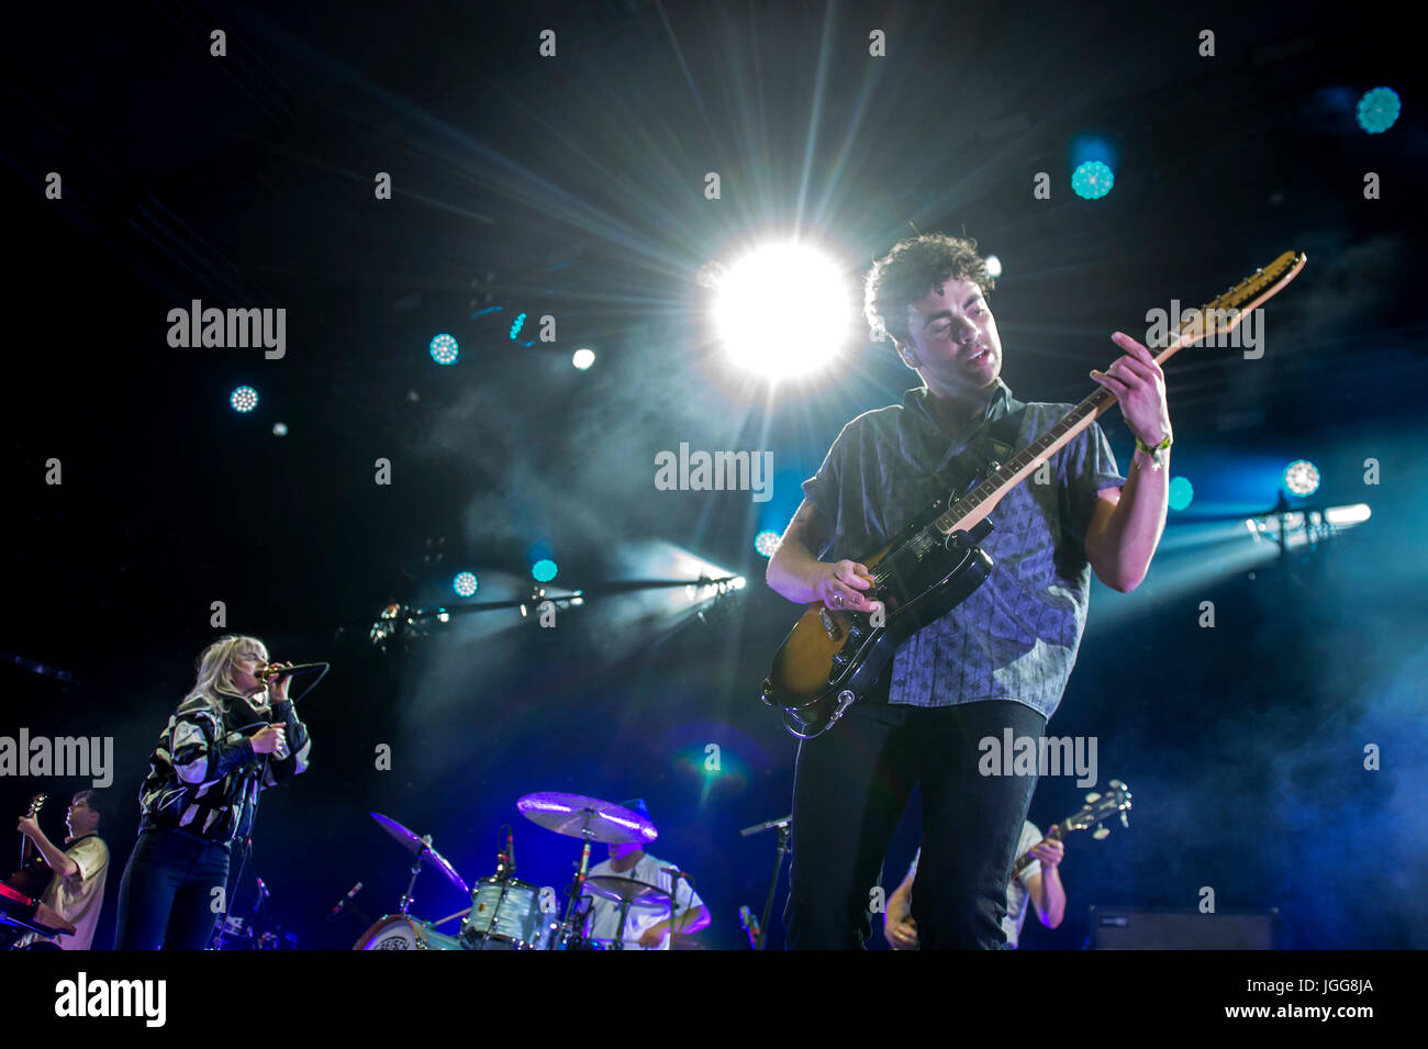
<svg viewBox="0 0 1428 1049">
<path fill-rule="evenodd" d="M 631 798 L 620 804 L 631 812 L 638 812 L 645 819 L 650 819 L 650 811 L 644 805 L 644 798 Z M 654 821 L 651 819 L 650 822 Z M 651 856 L 640 842 L 628 845 L 611 842 L 610 859 L 590 869 L 591 878 L 598 875 L 633 878 L 634 881 L 653 885 L 664 893 L 675 893 L 675 902 L 678 903 L 678 918 L 675 922 L 678 928 L 673 928 L 670 923 L 668 895 L 657 895 L 650 901 L 640 901 L 630 905 L 623 936 L 627 951 L 641 948 L 648 951 L 668 951 L 671 931 L 691 933 L 708 926 L 708 908 L 704 906 L 700 895 L 694 892 L 688 878 L 680 878 L 678 889 L 674 888 L 675 878 L 667 869 L 674 866 L 667 859 Z M 595 896 L 588 889 L 585 889 L 585 895 L 591 898 L 591 922 L 587 938 L 608 948 L 614 942 L 615 931 L 620 928 L 620 905 Z"/>
</svg>

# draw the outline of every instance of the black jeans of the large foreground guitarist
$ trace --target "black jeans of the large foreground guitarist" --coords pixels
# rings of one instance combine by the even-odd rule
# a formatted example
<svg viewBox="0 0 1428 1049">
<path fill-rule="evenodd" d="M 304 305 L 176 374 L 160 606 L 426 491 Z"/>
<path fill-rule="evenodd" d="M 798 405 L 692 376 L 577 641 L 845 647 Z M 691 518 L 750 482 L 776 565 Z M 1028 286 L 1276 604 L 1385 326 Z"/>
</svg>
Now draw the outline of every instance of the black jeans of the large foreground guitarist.
<svg viewBox="0 0 1428 1049">
<path fill-rule="evenodd" d="M 984 736 L 1040 739 L 1047 719 L 991 699 L 957 706 L 848 708 L 798 746 L 794 772 L 791 889 L 784 912 L 794 951 L 858 949 L 871 933 L 870 905 L 884 885 L 883 858 L 914 784 L 922 794 L 922 858 L 912 919 L 928 949 L 995 949 L 1007 942 L 1007 873 L 1035 776 L 978 772 Z M 887 895 L 902 881 L 891 872 Z"/>
</svg>

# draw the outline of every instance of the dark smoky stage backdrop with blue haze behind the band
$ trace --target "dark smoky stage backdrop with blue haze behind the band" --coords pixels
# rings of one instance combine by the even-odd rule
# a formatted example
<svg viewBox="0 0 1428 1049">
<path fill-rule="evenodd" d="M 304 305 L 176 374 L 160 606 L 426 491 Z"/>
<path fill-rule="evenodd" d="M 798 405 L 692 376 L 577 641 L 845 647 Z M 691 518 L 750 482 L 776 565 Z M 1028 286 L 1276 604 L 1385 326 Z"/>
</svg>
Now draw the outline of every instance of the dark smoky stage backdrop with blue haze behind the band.
<svg viewBox="0 0 1428 1049">
<path fill-rule="evenodd" d="M 770 391 L 723 364 L 697 277 L 801 230 L 857 288 L 910 223 L 1002 260 L 991 304 L 1024 400 L 1080 400 L 1110 333 L 1144 331 L 1147 310 L 1309 257 L 1268 305 L 1261 360 L 1191 350 L 1167 367 L 1174 472 L 1195 502 L 1137 592 L 1097 584 L 1050 725 L 1097 736 L 1102 782 L 1135 794 L 1131 829 L 1068 843 L 1067 921 L 1028 919 L 1024 946 L 1078 948 L 1088 905 L 1191 908 L 1201 886 L 1221 909 L 1279 908 L 1284 946 L 1428 946 L 1428 384 L 1409 240 L 1428 140 L 1407 19 L 641 0 L 13 13 L 0 649 L 29 662 L 0 661 L 0 732 L 114 736 L 96 946 L 113 938 L 146 756 L 221 632 L 213 601 L 274 658 L 333 662 L 301 704 L 311 771 L 266 795 L 236 909 L 257 873 L 303 946 L 346 948 L 361 922 L 324 923 L 327 909 L 361 879 L 371 916 L 394 911 L 408 866 L 367 812 L 433 833 L 468 881 L 494 872 L 513 824 L 520 875 L 563 885 L 575 845 L 516 799 L 640 795 L 657 855 L 714 915 L 701 939 L 741 946 L 737 909 L 761 908 L 774 841 L 738 828 L 788 811 L 795 754 L 757 702 L 795 609 L 763 585 L 753 539 L 783 529 L 844 421 L 917 380 L 857 325 L 825 377 Z M 555 59 L 537 54 L 543 29 Z M 868 57 L 871 29 L 888 57 Z M 1215 57 L 1197 53 L 1205 29 Z M 1378 86 L 1404 108 L 1371 136 L 1354 106 Z M 1118 158 L 1104 200 L 1070 190 L 1077 136 Z M 44 198 L 49 171 L 61 201 Z M 1037 171 L 1051 200 L 1032 198 Z M 1367 171 L 1381 200 L 1364 198 Z M 193 298 L 286 308 L 286 358 L 170 348 L 167 311 Z M 503 311 L 473 317 L 488 305 Z M 520 311 L 555 315 L 558 341 L 513 341 Z M 427 355 L 438 331 L 461 343 L 456 367 Z M 570 367 L 577 347 L 595 350 L 590 371 Z M 260 392 L 248 415 L 226 404 L 238 384 Z M 1104 424 L 1124 465 L 1118 412 Z M 681 441 L 771 450 L 774 498 L 655 491 L 654 454 Z M 378 457 L 390 487 L 373 482 Z M 1374 515 L 1274 564 L 1241 522 L 1301 457 L 1324 475 L 1311 502 Z M 44 484 L 49 458 L 61 485 Z M 750 587 L 703 622 L 675 589 L 591 598 L 548 631 L 504 611 L 386 651 L 367 639 L 387 602 L 463 604 L 463 568 L 476 599 L 521 597 L 537 557 L 565 588 L 691 578 L 691 558 Z M 0 809 L 49 789 L 57 838 L 84 785 L 0 781 Z M 1044 782 L 1032 821 L 1081 794 Z M 914 806 L 890 889 L 917 841 Z M 416 913 L 463 905 L 423 875 Z"/>
</svg>

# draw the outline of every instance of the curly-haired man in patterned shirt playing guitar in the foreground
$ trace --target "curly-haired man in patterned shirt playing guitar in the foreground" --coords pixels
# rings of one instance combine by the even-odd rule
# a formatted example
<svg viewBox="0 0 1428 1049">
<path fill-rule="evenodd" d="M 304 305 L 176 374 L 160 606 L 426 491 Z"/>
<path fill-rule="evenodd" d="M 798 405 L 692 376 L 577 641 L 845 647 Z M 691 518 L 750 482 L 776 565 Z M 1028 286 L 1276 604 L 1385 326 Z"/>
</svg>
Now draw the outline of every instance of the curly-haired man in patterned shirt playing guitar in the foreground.
<svg viewBox="0 0 1428 1049">
<path fill-rule="evenodd" d="M 874 338 L 890 337 L 922 385 L 901 405 L 848 422 L 768 562 L 795 602 L 873 612 L 867 565 L 968 467 L 1004 461 L 1070 405 L 1022 404 L 998 378 L 994 283 L 975 241 L 902 241 L 867 278 Z M 897 651 L 870 695 L 800 745 L 794 861 L 784 915 L 791 948 L 860 948 L 870 893 L 914 784 L 922 795 L 925 891 L 912 913 L 924 949 L 1001 948 L 1005 876 L 1035 776 L 978 774 L 978 741 L 1040 739 L 1085 627 L 1091 569 L 1127 592 L 1145 577 L 1165 524 L 1171 442 L 1165 382 L 1151 353 L 1122 351 L 1091 378 L 1114 392 L 1137 440 L 1122 478 L 1094 422 L 1012 488 L 991 514 L 990 578 Z M 1045 482 L 1041 482 L 1041 481 Z M 827 559 L 820 561 L 824 557 Z"/>
</svg>

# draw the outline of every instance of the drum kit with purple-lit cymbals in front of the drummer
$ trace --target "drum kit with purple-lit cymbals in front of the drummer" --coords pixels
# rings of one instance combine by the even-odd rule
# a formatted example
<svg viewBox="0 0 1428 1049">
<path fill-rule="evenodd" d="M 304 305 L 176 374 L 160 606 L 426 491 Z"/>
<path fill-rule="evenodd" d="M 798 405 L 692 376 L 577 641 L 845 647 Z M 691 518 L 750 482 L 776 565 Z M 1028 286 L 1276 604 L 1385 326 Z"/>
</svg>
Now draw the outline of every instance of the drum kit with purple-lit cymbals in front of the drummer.
<svg viewBox="0 0 1428 1049">
<path fill-rule="evenodd" d="M 378 812 L 377 821 L 393 839 L 416 856 L 411 879 L 396 913 L 384 915 L 363 932 L 353 951 L 600 951 L 603 945 L 585 933 L 588 902 L 593 896 L 615 903 L 620 922 L 613 949 L 623 946 L 625 918 L 631 906 L 663 906 L 674 901 L 657 885 L 620 875 L 590 875 L 590 849 L 600 843 L 647 843 L 658 836 L 654 824 L 638 812 L 600 798 L 581 794 L 527 794 L 516 802 L 517 811 L 537 826 L 565 838 L 578 838 L 583 845 L 575 881 L 567 888 L 568 902 L 561 918 L 555 891 L 538 888 L 516 879 L 516 848 L 506 831 L 504 848 L 497 853 L 496 873 L 468 886 L 456 868 L 431 848 L 431 835 L 418 836 L 394 819 Z M 471 906 L 436 922 L 413 918 L 413 889 L 423 868 L 441 872 L 451 885 L 471 898 Z M 461 919 L 456 935 L 438 932 L 438 926 Z"/>
</svg>

